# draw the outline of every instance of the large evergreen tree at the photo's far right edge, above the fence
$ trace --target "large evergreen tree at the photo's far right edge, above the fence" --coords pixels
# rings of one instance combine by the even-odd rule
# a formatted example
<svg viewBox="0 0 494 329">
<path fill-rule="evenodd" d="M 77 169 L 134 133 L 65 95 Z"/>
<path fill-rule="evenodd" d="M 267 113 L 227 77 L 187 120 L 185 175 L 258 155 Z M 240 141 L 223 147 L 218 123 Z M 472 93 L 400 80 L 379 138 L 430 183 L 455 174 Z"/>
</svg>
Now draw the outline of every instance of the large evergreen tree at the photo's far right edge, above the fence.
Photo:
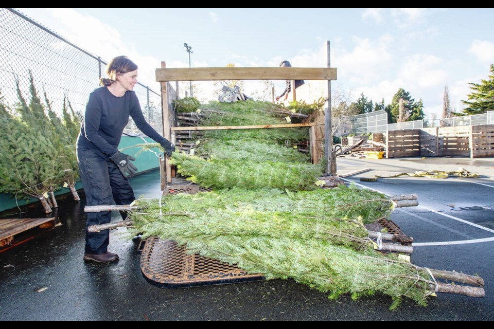
<svg viewBox="0 0 494 329">
<path fill-rule="evenodd" d="M 466 115 L 482 114 L 494 110 L 494 64 L 490 64 L 490 75 L 488 80 L 481 80 L 481 83 L 470 82 L 472 93 L 468 94 L 468 100 L 463 101 L 467 105 L 463 109 Z"/>
</svg>

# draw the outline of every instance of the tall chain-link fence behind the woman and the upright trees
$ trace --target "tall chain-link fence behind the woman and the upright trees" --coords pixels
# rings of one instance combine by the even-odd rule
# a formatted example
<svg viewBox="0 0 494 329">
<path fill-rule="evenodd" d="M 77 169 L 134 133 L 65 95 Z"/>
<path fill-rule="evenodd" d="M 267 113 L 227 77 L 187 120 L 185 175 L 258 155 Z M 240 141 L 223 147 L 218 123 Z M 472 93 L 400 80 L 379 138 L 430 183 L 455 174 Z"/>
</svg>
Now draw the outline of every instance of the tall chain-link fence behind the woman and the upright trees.
<svg viewBox="0 0 494 329">
<path fill-rule="evenodd" d="M 100 57 L 68 42 L 60 35 L 16 10 L 0 9 L 0 92 L 6 104 L 19 101 L 16 85 L 29 97 L 30 75 L 43 98 L 46 93 L 52 109 L 61 113 L 64 98 L 82 115 L 89 94 L 99 86 L 105 63 Z M 162 134 L 161 95 L 138 84 L 134 88 L 143 113 Z M 132 119 L 124 133 L 140 134 Z"/>
</svg>

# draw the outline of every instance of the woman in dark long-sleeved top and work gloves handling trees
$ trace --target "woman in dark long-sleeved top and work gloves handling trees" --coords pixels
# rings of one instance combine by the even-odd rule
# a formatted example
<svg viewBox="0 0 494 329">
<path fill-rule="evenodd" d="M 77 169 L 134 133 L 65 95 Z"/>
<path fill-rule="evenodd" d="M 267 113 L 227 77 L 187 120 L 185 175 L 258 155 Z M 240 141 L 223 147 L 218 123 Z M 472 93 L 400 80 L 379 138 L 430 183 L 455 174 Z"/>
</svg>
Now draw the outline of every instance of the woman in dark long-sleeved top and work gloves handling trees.
<svg viewBox="0 0 494 329">
<path fill-rule="evenodd" d="M 133 92 L 137 65 L 125 56 L 118 56 L 107 65 L 107 75 L 109 79 L 100 79 L 102 86 L 89 96 L 77 139 L 77 161 L 88 206 L 129 205 L 135 200 L 128 179 L 137 170 L 130 162 L 135 159 L 117 150 L 129 117 L 140 131 L 160 143 L 168 156 L 175 151 L 175 146 L 158 134 L 143 116 Z M 121 215 L 125 219 L 125 213 Z M 85 261 L 118 260 L 118 255 L 107 249 L 109 230 L 87 232 L 89 226 L 110 221 L 110 211 L 87 213 Z"/>
</svg>

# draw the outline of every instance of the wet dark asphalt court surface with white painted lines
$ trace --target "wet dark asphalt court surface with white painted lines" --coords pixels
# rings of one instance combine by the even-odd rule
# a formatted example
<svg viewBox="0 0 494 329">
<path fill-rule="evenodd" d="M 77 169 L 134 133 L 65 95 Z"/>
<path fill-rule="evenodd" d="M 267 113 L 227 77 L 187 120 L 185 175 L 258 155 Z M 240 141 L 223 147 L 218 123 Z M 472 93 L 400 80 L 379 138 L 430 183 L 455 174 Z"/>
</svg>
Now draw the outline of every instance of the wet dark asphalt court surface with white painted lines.
<svg viewBox="0 0 494 329">
<path fill-rule="evenodd" d="M 424 165 L 424 161 L 416 159 L 381 160 L 341 159 L 339 172 L 374 166 L 376 170 L 372 173 L 347 177 L 348 181 L 360 184 L 358 177 L 410 172 L 411 168 L 415 169 L 410 164 Z M 455 160 L 466 167 L 465 161 L 470 159 Z M 338 300 L 329 300 L 327 294 L 293 280 L 179 289 L 157 287 L 142 275 L 138 240 L 126 234 L 125 228 L 111 232 L 109 250 L 119 254 L 118 262 L 83 262 L 84 202 L 67 197 L 58 199 L 59 209 L 54 214 L 62 226 L 0 253 L 0 320 L 493 320 L 494 241 L 489 238 L 494 233 L 450 218 L 494 228 L 494 184 L 488 175 L 494 172 L 489 168 L 491 162 L 475 163 L 483 172 L 483 177 L 475 181 L 484 185 L 428 179 L 419 184 L 413 180 L 417 178 L 408 182 L 401 180 L 399 184 L 393 179 L 365 183 L 375 184 L 372 188 L 389 194 L 417 193 L 423 207 L 397 209 L 391 215 L 391 220 L 404 233 L 412 235 L 417 243 L 425 243 L 414 245 L 412 263 L 477 273 L 486 283 L 484 298 L 438 293 L 426 307 L 404 300 L 395 312 L 390 312 L 391 299 L 386 296 L 362 297 L 358 301 L 341 296 Z M 458 167 L 456 163 L 451 166 Z M 156 170 L 132 178 L 136 196 L 160 195 L 159 177 Z M 463 194 L 469 198 L 453 202 L 453 197 Z M 81 198 L 84 199 L 82 191 Z M 438 210 L 431 212 L 429 208 Z M 45 216 L 37 205 L 23 210 L 28 212 L 14 217 Z M 0 217 L 6 217 L 5 213 Z M 115 212 L 113 220 L 119 219 Z M 475 239 L 487 241 L 427 245 Z"/>
</svg>

